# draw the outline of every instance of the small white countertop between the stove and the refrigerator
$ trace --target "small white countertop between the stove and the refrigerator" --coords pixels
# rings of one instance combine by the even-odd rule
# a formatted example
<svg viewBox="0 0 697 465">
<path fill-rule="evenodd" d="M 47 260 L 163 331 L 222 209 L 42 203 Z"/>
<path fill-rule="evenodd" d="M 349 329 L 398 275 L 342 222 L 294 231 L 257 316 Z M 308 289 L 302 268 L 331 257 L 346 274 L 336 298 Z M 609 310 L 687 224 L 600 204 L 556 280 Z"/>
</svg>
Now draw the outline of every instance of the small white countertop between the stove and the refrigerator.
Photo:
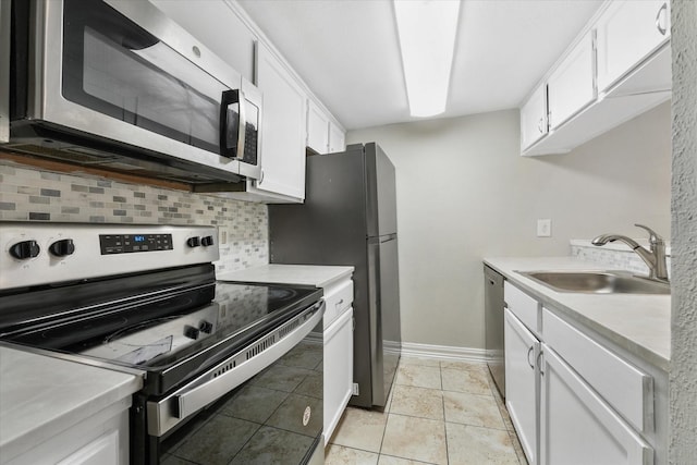
<svg viewBox="0 0 697 465">
<path fill-rule="evenodd" d="M 272 264 L 220 273 L 216 279 L 222 281 L 269 282 L 326 287 L 333 281 L 350 277 L 353 270 L 353 267 Z"/>
</svg>

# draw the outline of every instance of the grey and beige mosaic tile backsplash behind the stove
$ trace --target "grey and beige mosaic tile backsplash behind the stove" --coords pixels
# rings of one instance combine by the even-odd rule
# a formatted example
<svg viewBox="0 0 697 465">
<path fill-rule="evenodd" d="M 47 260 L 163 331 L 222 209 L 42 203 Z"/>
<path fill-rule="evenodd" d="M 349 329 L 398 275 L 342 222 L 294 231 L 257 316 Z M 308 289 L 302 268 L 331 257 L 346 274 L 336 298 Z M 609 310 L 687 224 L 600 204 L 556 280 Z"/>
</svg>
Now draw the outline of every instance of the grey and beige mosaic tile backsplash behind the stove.
<svg viewBox="0 0 697 465">
<path fill-rule="evenodd" d="M 228 232 L 219 272 L 269 262 L 268 209 L 229 200 L 0 162 L 0 220 L 217 225 Z"/>
</svg>

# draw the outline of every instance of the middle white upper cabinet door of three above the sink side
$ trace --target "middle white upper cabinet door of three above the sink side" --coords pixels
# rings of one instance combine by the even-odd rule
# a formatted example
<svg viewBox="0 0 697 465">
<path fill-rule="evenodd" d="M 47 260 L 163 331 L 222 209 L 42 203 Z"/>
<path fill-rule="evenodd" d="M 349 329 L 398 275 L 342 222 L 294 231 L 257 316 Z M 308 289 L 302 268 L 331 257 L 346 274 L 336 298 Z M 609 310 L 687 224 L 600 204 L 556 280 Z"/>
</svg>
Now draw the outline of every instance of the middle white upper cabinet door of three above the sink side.
<svg viewBox="0 0 697 465">
<path fill-rule="evenodd" d="M 596 99 L 592 30 L 588 32 L 547 81 L 550 131 Z"/>
</svg>

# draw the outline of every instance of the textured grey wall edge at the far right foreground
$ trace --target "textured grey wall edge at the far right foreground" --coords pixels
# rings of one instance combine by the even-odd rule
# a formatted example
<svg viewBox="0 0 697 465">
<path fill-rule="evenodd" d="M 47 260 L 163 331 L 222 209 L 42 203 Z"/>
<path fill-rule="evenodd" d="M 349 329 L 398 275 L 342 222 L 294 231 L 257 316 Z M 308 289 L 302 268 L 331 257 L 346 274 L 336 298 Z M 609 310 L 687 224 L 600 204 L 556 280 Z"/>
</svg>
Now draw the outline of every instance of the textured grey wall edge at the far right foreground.
<svg viewBox="0 0 697 465">
<path fill-rule="evenodd" d="M 673 1 L 673 223 L 670 463 L 697 456 L 697 2 Z"/>
</svg>

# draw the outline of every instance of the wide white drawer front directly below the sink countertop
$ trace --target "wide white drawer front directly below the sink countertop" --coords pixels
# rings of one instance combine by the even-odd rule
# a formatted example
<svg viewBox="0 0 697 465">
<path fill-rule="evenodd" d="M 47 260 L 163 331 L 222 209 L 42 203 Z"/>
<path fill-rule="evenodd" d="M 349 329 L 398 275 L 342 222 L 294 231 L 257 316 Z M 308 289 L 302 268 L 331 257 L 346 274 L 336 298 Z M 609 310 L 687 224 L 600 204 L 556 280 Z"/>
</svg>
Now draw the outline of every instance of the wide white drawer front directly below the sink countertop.
<svg viewBox="0 0 697 465">
<path fill-rule="evenodd" d="M 545 342 L 638 431 L 653 430 L 653 379 L 550 310 Z"/>
</svg>

